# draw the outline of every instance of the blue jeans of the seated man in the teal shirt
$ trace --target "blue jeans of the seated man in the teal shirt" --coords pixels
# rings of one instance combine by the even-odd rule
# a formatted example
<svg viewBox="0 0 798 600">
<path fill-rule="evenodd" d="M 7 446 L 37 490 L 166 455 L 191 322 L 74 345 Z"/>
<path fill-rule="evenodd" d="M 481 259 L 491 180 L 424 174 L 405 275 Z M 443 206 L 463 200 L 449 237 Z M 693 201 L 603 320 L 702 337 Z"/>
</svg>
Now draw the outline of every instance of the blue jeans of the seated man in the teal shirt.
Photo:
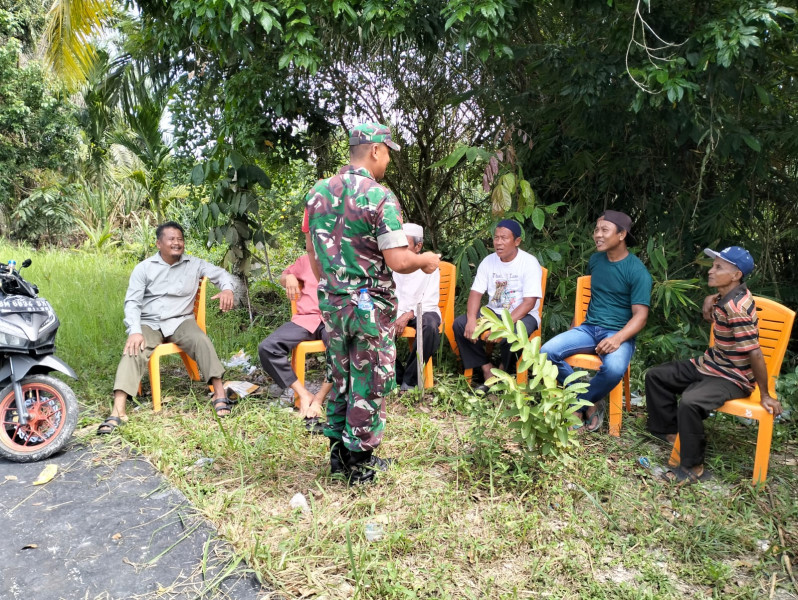
<svg viewBox="0 0 798 600">
<path fill-rule="evenodd" d="M 598 325 L 580 325 L 553 337 L 543 344 L 540 351 L 548 354 L 549 360 L 557 366 L 557 381 L 562 383 L 574 372 L 573 367 L 565 362 L 566 358 L 573 354 L 595 354 L 598 343 L 616 333 Z M 595 404 L 607 396 L 623 379 L 634 352 L 635 342 L 632 339 L 621 344 L 615 352 L 600 357 L 601 368 L 590 380 L 587 392 L 579 397 Z"/>
</svg>

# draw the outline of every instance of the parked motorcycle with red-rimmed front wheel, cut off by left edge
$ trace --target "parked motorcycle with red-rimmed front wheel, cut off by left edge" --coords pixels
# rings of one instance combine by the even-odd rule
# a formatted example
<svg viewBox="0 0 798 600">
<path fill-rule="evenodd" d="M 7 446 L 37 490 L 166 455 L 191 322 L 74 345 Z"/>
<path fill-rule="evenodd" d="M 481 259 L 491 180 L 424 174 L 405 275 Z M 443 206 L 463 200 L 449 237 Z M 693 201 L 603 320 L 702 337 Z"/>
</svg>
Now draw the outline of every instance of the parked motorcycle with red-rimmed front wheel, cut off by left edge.
<svg viewBox="0 0 798 600">
<path fill-rule="evenodd" d="M 63 448 L 78 422 L 75 393 L 49 373 L 77 375 L 55 356 L 53 307 L 15 266 L 0 264 L 0 457 L 34 462 Z"/>
</svg>

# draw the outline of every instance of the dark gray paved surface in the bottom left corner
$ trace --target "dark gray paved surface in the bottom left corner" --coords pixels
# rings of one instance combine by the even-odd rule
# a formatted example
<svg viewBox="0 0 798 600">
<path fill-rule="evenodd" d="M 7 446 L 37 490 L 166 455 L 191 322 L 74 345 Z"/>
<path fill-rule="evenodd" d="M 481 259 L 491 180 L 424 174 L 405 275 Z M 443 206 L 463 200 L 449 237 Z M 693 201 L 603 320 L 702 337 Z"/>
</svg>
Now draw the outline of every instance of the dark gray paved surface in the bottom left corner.
<svg viewBox="0 0 798 600">
<path fill-rule="evenodd" d="M 32 485 L 50 463 L 58 465 L 53 480 Z M 268 594 L 186 498 L 121 440 L 73 438 L 33 464 L 0 459 L 0 515 L 3 600 Z"/>
</svg>

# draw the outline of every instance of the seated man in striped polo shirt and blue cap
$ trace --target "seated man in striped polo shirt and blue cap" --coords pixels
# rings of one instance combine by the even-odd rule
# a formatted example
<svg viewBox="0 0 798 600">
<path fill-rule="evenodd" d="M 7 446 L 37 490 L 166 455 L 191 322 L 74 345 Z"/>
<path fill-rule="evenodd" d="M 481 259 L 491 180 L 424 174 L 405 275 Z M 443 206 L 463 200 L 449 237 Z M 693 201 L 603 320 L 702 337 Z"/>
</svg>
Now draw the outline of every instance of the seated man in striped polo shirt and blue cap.
<svg viewBox="0 0 798 600">
<path fill-rule="evenodd" d="M 711 411 L 727 400 L 750 396 L 758 385 L 762 406 L 774 416 L 781 414 L 781 404 L 768 395 L 756 306 L 743 283 L 754 269 L 754 259 L 739 246 L 720 252 L 706 248 L 704 253 L 714 259 L 708 280 L 718 290 L 707 296 L 703 307 L 715 345 L 699 358 L 666 363 L 646 373 L 648 430 L 670 443 L 678 432 L 681 441 L 681 465 L 665 476 L 690 483 L 709 477 L 704 469 L 703 421 Z"/>
</svg>

